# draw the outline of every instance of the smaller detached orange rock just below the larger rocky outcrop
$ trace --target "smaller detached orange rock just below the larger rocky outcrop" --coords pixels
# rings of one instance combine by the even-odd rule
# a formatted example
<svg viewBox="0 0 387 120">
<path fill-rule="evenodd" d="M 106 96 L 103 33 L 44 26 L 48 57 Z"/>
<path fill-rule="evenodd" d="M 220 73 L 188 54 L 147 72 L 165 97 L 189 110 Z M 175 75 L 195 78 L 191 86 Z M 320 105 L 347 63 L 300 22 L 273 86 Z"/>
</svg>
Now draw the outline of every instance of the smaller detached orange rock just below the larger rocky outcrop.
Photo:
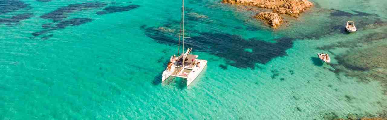
<svg viewBox="0 0 387 120">
<path fill-rule="evenodd" d="M 283 22 L 282 17 L 274 12 L 261 12 L 257 13 L 254 17 L 257 19 L 264 20 L 272 27 L 279 27 Z"/>
</svg>

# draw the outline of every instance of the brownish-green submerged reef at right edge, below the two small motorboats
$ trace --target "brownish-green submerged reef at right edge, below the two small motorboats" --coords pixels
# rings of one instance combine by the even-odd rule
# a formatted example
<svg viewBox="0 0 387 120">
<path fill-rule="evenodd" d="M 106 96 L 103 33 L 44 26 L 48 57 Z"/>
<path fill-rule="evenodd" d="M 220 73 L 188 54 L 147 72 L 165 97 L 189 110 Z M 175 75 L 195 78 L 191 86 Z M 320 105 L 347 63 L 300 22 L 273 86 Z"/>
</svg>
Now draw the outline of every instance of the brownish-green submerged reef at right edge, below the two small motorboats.
<svg viewBox="0 0 387 120">
<path fill-rule="evenodd" d="M 387 95 L 387 44 L 374 47 L 356 48 L 335 57 L 339 64 L 332 64 L 337 74 L 358 78 L 359 82 L 379 81 L 386 88 Z"/>
</svg>

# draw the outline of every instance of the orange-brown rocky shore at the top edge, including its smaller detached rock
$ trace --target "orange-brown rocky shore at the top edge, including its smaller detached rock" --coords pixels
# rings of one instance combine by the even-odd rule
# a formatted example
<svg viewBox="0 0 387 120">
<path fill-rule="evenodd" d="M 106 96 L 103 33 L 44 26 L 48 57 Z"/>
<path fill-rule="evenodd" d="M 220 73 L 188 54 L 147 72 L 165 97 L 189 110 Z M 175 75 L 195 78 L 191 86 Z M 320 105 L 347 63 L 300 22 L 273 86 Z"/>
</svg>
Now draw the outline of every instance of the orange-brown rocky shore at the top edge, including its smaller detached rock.
<svg viewBox="0 0 387 120">
<path fill-rule="evenodd" d="M 272 27 L 279 27 L 283 21 L 277 13 L 298 17 L 298 14 L 313 6 L 313 3 L 308 0 L 223 0 L 222 2 L 271 9 L 272 12 L 257 13 L 254 17 L 266 21 Z"/>
</svg>

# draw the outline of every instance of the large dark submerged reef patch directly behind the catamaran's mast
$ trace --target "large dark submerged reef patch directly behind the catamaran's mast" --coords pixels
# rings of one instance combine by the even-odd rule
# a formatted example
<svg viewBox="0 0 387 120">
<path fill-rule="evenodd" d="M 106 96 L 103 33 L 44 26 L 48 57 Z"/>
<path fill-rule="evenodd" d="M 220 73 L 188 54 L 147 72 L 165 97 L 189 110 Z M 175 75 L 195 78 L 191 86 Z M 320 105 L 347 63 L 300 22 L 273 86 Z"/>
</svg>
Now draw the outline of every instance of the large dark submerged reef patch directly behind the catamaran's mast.
<svg viewBox="0 0 387 120">
<path fill-rule="evenodd" d="M 178 31 L 175 27 L 164 25 L 161 27 L 142 27 L 147 37 L 158 43 L 177 45 Z M 178 28 L 176 28 L 178 29 Z M 238 68 L 255 68 L 256 63 L 265 64 L 276 57 L 285 56 L 286 50 L 293 47 L 293 38 L 277 38 L 275 43 L 245 39 L 239 35 L 228 33 L 198 32 L 185 41 L 186 46 L 195 46 L 195 50 L 209 52 L 213 55 L 226 58 L 228 64 Z M 249 48 L 254 52 L 247 52 Z M 274 52 L 275 51 L 275 52 Z M 259 56 L 259 57 L 257 57 Z"/>
</svg>

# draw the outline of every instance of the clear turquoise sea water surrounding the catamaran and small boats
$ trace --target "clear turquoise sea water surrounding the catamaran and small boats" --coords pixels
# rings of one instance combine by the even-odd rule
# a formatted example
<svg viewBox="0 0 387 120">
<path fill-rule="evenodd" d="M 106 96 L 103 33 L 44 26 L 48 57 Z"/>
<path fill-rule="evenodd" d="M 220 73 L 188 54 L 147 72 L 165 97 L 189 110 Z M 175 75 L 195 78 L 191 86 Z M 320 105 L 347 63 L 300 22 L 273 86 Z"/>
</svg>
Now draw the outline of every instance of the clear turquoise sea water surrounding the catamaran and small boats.
<svg viewBox="0 0 387 120">
<path fill-rule="evenodd" d="M 241 6 L 186 1 L 186 45 L 209 62 L 185 87 L 181 79 L 160 82 L 176 54 L 181 2 L 2 0 L 0 119 L 323 120 L 386 110 L 382 80 L 332 69 L 335 57 L 387 32 L 387 2 L 312 2 L 272 30 Z M 357 33 L 344 32 L 347 20 Z M 340 47 L 348 41 L 355 45 Z M 330 53 L 332 65 L 316 60 L 319 52 Z"/>
</svg>

